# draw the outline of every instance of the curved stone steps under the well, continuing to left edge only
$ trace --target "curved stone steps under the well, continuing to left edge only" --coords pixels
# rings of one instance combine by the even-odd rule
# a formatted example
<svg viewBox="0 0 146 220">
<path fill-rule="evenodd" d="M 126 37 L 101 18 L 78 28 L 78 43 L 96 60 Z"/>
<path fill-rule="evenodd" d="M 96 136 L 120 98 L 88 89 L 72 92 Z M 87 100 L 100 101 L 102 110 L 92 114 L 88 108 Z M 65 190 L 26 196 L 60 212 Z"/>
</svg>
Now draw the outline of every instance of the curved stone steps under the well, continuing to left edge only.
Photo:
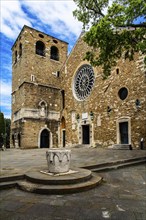
<svg viewBox="0 0 146 220">
<path fill-rule="evenodd" d="M 31 170 L 24 178 L 16 176 L 5 177 L 0 184 L 0 189 L 17 187 L 21 190 L 39 194 L 66 194 L 82 192 L 96 187 L 101 183 L 102 177 L 95 175 L 90 170 L 75 168 L 70 174 L 49 175 L 40 170 Z M 5 181 L 4 181 L 5 180 Z"/>
</svg>

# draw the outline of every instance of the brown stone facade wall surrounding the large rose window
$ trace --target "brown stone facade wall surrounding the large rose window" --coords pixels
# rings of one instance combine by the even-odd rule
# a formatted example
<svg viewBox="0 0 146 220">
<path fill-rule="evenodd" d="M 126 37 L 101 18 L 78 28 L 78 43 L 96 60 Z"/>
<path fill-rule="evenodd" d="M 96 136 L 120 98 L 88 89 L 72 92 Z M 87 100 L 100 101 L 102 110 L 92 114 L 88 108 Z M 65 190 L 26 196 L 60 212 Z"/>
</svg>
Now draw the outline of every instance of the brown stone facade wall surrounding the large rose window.
<svg viewBox="0 0 146 220">
<path fill-rule="evenodd" d="M 129 144 L 137 147 L 140 139 L 146 137 L 146 82 L 141 56 L 136 55 L 131 62 L 120 59 L 107 80 L 103 80 L 101 68 L 94 68 L 95 83 L 90 96 L 84 101 L 77 101 L 72 85 L 78 68 L 88 63 L 83 61 L 87 50 L 89 48 L 81 37 L 66 62 L 62 76 L 62 87 L 66 94 L 62 115 L 66 120 L 67 144 L 82 143 L 80 133 L 84 121 L 81 118 L 83 113 L 88 113 L 86 124 L 90 125 L 93 136 L 91 145 L 120 144 L 119 123 L 128 122 Z M 118 92 L 123 87 L 127 88 L 128 96 L 121 100 Z M 140 101 L 138 108 L 135 105 L 137 99 Z M 80 122 L 76 121 L 74 126 L 71 121 L 72 111 L 80 115 Z M 94 113 L 93 122 L 90 120 L 91 111 Z"/>
</svg>

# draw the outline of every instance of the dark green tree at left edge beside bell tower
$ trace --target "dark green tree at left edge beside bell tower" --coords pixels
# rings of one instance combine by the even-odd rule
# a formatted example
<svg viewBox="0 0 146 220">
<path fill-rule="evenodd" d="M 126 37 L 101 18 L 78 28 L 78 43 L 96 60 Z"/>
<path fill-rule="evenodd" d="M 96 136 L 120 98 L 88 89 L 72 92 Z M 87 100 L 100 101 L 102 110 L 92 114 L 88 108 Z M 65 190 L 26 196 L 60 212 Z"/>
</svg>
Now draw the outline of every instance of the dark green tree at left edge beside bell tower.
<svg viewBox="0 0 146 220">
<path fill-rule="evenodd" d="M 0 148 L 5 145 L 5 137 L 6 137 L 6 127 L 5 127 L 5 120 L 4 114 L 0 112 Z"/>
</svg>

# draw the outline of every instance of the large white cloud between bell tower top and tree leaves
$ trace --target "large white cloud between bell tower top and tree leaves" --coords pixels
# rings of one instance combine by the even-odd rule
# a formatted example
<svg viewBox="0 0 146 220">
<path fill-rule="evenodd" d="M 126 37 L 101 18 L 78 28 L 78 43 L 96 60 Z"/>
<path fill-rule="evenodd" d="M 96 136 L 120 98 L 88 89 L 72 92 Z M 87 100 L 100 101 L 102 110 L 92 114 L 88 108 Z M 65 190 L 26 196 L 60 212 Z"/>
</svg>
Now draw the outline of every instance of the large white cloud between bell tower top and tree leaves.
<svg viewBox="0 0 146 220">
<path fill-rule="evenodd" d="M 43 24 L 51 27 L 54 33 L 69 36 L 70 33 L 78 36 L 82 24 L 72 14 L 76 8 L 75 3 L 70 1 L 22 1 L 23 6 L 31 12 Z"/>
</svg>

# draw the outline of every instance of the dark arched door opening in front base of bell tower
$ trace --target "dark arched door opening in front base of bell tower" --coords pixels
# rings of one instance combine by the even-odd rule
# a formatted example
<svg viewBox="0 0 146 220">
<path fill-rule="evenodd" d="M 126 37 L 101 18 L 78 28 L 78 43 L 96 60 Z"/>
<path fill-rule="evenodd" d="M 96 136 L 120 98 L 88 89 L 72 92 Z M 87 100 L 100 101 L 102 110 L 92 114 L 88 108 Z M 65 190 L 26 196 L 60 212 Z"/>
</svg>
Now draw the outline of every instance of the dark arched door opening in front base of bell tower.
<svg viewBox="0 0 146 220">
<path fill-rule="evenodd" d="M 42 130 L 40 135 L 40 148 L 50 147 L 50 132 L 47 129 Z"/>
</svg>

